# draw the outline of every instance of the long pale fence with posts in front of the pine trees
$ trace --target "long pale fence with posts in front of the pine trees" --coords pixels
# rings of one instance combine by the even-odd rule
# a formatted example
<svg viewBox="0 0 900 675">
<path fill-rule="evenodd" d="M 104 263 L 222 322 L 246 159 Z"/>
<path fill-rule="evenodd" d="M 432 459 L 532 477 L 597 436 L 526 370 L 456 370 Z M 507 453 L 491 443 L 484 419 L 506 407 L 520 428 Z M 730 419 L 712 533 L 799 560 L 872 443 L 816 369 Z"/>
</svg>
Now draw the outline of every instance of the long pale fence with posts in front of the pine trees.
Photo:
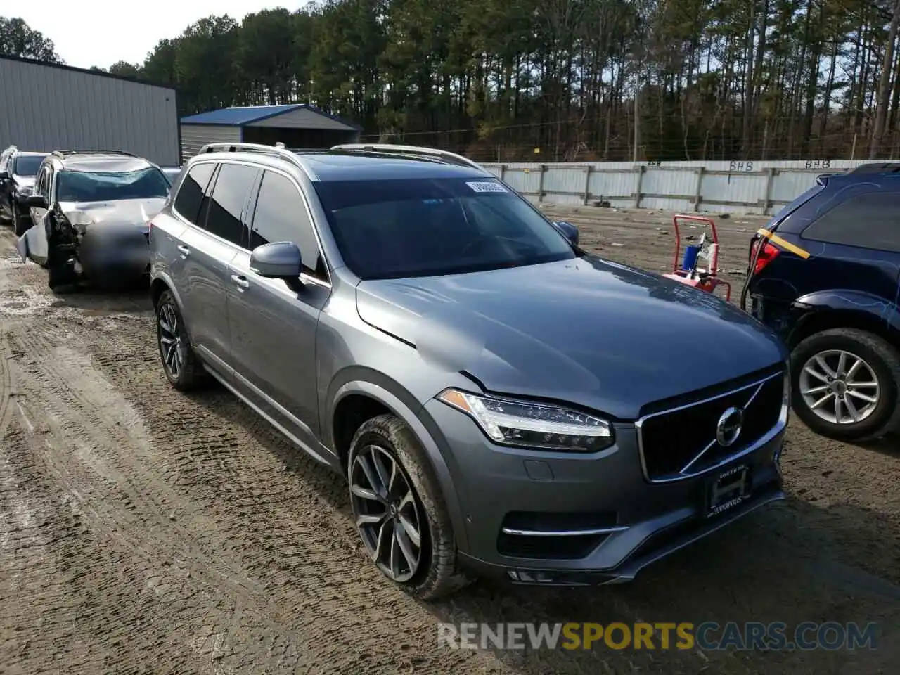
<svg viewBox="0 0 900 675">
<path fill-rule="evenodd" d="M 774 214 L 824 173 L 865 160 L 483 164 L 533 202 Z"/>
</svg>

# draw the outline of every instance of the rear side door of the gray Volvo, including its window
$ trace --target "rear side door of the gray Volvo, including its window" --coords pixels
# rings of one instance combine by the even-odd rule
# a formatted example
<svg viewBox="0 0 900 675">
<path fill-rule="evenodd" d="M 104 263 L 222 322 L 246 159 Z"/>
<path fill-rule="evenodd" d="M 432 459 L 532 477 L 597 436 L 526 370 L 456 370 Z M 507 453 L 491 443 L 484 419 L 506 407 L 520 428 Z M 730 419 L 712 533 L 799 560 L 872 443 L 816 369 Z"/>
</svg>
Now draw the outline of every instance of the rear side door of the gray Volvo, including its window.
<svg viewBox="0 0 900 675">
<path fill-rule="evenodd" d="M 256 166 L 220 162 L 208 199 L 177 245 L 183 260 L 179 290 L 184 321 L 194 347 L 226 378 L 231 375 L 229 263 L 246 246 L 243 216 L 257 171 Z"/>
</svg>

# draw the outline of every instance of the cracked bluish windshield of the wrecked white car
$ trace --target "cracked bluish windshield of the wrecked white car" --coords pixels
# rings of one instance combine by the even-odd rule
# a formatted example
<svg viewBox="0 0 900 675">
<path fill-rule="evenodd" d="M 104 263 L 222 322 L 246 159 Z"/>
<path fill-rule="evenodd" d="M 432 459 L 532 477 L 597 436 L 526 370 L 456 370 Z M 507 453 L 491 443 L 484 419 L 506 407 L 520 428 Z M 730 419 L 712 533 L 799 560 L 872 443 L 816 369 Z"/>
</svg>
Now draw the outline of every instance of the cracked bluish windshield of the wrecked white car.
<svg viewBox="0 0 900 675">
<path fill-rule="evenodd" d="M 139 171 L 60 171 L 58 202 L 112 202 L 118 199 L 150 199 L 168 194 L 169 184 L 156 166 Z"/>
</svg>

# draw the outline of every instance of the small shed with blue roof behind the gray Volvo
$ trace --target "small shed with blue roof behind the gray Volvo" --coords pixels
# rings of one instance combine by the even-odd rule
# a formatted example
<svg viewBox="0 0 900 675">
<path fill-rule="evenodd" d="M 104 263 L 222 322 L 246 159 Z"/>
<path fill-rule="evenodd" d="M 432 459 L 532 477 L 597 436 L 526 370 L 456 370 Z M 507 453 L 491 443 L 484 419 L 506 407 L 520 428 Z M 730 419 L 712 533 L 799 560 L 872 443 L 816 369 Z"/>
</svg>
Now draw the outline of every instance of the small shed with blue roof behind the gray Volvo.
<svg viewBox="0 0 900 675">
<path fill-rule="evenodd" d="M 207 143 L 281 141 L 288 148 L 329 148 L 356 143 L 359 133 L 355 124 L 307 103 L 222 108 L 181 119 L 182 159 Z"/>
</svg>

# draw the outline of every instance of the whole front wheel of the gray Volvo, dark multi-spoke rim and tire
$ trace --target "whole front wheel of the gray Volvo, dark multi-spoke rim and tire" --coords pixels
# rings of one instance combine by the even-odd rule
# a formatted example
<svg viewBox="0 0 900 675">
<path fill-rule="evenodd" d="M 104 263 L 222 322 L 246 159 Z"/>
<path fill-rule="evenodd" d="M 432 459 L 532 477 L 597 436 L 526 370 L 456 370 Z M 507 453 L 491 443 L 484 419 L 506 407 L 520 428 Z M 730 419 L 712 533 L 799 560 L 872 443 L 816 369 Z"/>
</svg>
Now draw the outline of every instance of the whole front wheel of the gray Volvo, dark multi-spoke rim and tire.
<svg viewBox="0 0 900 675">
<path fill-rule="evenodd" d="M 370 419 L 350 446 L 347 478 L 356 529 L 378 569 L 401 590 L 431 600 L 461 589 L 446 507 L 409 427 Z"/>
</svg>

